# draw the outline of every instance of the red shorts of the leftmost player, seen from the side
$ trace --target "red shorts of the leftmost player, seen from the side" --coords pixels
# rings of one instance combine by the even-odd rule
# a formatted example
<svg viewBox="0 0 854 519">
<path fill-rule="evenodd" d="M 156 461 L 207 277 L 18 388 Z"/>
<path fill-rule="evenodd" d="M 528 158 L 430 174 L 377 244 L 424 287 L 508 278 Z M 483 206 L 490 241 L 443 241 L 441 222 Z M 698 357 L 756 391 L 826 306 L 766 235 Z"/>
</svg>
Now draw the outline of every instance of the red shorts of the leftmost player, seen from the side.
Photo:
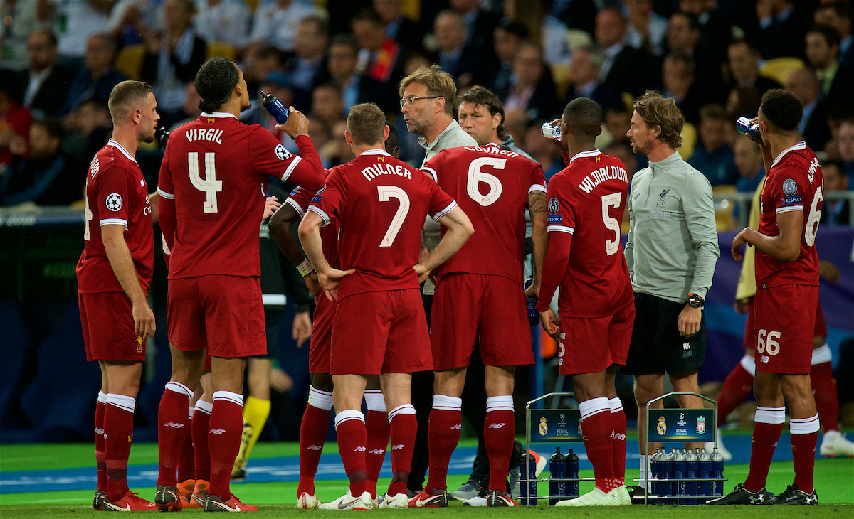
<svg viewBox="0 0 854 519">
<path fill-rule="evenodd" d="M 124 292 L 78 294 L 86 360 L 145 360 L 145 341 L 133 331 L 133 305 Z"/>
</svg>

